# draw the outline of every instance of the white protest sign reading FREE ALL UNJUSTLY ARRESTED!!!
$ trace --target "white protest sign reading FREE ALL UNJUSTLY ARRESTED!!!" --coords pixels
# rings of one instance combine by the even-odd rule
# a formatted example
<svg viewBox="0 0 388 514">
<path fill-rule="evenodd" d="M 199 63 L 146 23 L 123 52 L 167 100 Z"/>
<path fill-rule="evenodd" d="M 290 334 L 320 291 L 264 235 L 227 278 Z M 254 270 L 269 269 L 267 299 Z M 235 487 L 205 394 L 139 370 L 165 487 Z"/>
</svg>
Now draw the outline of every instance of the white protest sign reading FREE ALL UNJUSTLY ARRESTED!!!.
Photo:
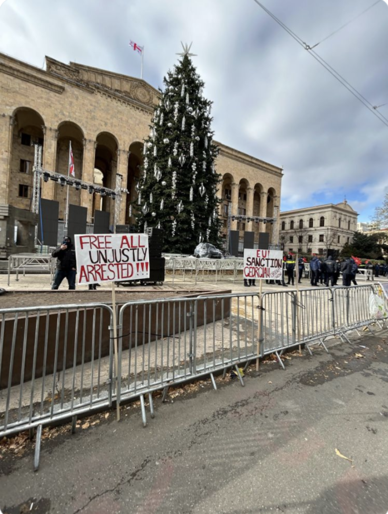
<svg viewBox="0 0 388 514">
<path fill-rule="evenodd" d="M 78 284 L 150 277 L 147 235 L 83 234 L 74 238 Z"/>
</svg>

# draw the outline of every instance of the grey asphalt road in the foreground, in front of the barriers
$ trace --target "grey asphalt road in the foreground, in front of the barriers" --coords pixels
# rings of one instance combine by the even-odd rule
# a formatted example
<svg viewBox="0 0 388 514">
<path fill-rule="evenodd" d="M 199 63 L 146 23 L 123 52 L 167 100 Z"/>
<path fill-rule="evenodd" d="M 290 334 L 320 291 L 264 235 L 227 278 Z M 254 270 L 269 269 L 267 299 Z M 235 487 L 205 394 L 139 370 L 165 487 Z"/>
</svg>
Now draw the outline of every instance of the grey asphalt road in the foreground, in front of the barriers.
<svg viewBox="0 0 388 514">
<path fill-rule="evenodd" d="M 114 412 L 90 418 L 100 422 L 43 441 L 36 473 L 32 448 L 5 453 L 0 509 L 386 514 L 387 333 L 330 352 L 292 356 L 286 371 L 252 368 L 244 388 L 219 377 L 218 391 L 206 383 L 156 399 L 145 429 L 133 404 L 122 407 L 120 423 Z"/>
</svg>

